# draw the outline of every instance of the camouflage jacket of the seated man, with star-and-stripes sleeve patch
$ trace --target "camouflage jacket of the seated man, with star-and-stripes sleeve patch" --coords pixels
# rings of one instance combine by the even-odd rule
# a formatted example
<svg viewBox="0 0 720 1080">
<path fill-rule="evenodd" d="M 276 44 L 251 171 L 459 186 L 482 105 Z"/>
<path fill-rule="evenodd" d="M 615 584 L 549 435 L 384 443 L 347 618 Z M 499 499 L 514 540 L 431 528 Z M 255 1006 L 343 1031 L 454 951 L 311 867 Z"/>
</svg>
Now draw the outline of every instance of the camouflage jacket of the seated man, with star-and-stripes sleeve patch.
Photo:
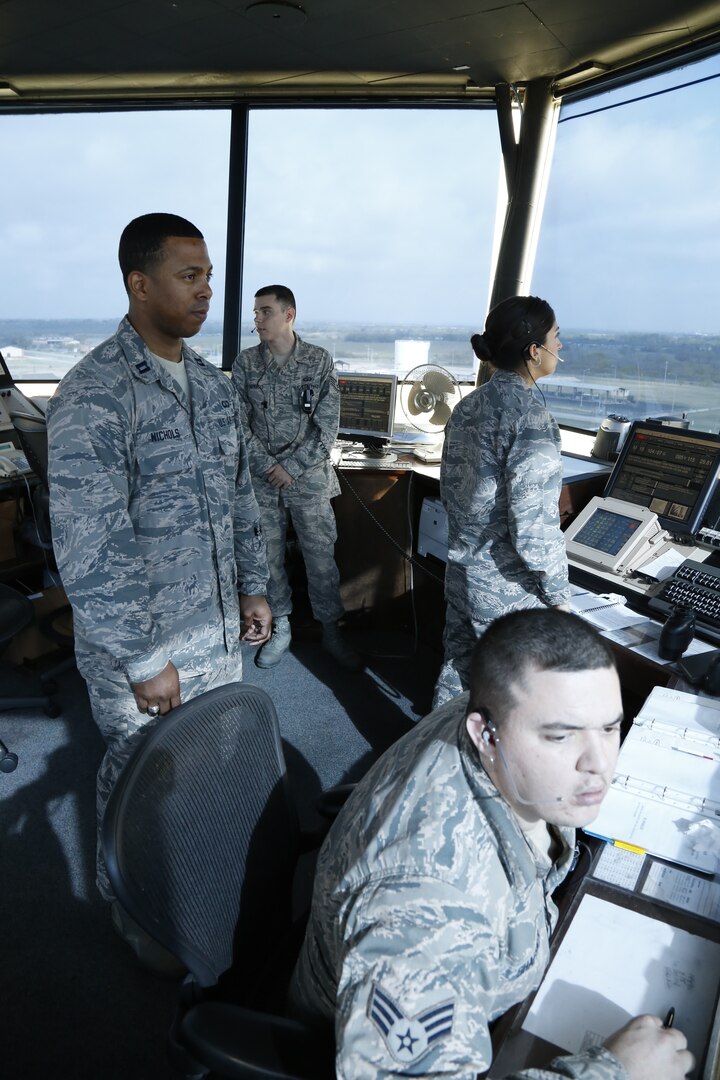
<svg viewBox="0 0 720 1080">
<path fill-rule="evenodd" d="M 370 769 L 320 854 L 293 1012 L 335 1022 L 342 1080 L 490 1067 L 488 1025 L 542 980 L 574 831 L 551 863 L 531 847 L 465 731 L 467 694 Z M 627 1080 L 594 1048 L 517 1076 Z"/>
</svg>

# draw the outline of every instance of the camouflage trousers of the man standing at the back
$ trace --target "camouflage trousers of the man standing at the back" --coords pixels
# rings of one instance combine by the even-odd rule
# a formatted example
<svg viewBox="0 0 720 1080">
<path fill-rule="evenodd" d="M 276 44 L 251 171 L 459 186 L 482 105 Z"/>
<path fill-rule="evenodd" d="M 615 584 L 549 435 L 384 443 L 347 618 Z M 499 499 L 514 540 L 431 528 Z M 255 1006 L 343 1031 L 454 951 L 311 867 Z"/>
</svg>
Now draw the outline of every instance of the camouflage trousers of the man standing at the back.
<svg viewBox="0 0 720 1080">
<path fill-rule="evenodd" d="M 344 615 L 340 599 L 340 573 L 335 563 L 338 527 L 332 503 L 324 495 L 285 500 L 282 491 L 258 495 L 262 534 L 268 551 L 268 604 L 273 618 L 293 610 L 293 592 L 285 570 L 288 515 L 300 544 L 308 575 L 308 595 L 318 622 L 337 622 Z"/>
</svg>

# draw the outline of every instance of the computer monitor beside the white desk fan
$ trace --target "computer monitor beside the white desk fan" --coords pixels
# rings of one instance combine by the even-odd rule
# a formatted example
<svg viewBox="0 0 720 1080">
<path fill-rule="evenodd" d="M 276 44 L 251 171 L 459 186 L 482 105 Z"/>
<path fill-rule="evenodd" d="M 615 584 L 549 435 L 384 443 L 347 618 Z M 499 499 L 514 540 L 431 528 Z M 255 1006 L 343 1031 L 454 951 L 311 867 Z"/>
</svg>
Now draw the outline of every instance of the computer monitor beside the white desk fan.
<svg viewBox="0 0 720 1080">
<path fill-rule="evenodd" d="M 381 450 L 393 435 L 397 376 L 343 372 L 338 375 L 338 386 L 339 436 Z"/>
</svg>

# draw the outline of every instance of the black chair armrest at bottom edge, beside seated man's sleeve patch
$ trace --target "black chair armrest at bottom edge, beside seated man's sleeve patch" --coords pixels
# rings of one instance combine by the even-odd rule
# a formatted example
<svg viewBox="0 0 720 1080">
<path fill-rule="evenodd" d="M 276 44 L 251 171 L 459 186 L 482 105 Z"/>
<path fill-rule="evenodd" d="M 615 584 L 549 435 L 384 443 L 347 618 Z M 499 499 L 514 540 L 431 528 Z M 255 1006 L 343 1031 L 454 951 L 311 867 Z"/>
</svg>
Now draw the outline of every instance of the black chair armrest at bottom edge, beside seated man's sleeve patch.
<svg viewBox="0 0 720 1080">
<path fill-rule="evenodd" d="M 227 1080 L 335 1080 L 329 1029 L 206 1001 L 186 1013 L 180 1031 L 192 1057 Z"/>
</svg>

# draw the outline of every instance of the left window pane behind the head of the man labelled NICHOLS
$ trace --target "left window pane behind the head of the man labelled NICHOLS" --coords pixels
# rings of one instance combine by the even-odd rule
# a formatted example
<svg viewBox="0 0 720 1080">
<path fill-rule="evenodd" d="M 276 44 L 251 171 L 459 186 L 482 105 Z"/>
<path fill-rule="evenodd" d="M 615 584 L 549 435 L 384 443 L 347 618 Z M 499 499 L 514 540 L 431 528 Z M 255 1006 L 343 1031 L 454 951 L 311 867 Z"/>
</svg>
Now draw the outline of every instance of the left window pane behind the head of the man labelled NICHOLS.
<svg viewBox="0 0 720 1080">
<path fill-rule="evenodd" d="M 0 118 L 0 350 L 16 379 L 57 379 L 127 310 L 123 228 L 168 211 L 193 221 L 215 265 L 193 339 L 220 363 L 230 113 L 152 111 Z"/>
</svg>

